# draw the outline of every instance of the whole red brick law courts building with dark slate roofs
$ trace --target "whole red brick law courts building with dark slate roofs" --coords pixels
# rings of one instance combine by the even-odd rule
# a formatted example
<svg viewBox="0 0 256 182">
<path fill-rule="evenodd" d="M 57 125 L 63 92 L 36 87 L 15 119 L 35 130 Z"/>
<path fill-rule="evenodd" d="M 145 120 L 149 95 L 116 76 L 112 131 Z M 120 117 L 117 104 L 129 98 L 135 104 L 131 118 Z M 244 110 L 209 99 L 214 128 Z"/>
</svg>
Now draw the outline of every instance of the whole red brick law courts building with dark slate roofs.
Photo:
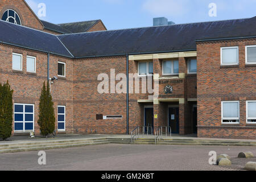
<svg viewBox="0 0 256 182">
<path fill-rule="evenodd" d="M 0 18 L 0 82 L 14 89 L 14 134 L 40 133 L 40 89 L 51 79 L 57 133 L 170 126 L 177 134 L 256 139 L 256 16 L 107 31 L 101 20 L 44 22 L 26 2 L 8 0 L 0 1 Z M 142 83 L 131 92 L 130 81 L 122 85 L 129 93 L 114 92 L 122 73 L 158 83 L 158 97 L 143 93 Z"/>
</svg>

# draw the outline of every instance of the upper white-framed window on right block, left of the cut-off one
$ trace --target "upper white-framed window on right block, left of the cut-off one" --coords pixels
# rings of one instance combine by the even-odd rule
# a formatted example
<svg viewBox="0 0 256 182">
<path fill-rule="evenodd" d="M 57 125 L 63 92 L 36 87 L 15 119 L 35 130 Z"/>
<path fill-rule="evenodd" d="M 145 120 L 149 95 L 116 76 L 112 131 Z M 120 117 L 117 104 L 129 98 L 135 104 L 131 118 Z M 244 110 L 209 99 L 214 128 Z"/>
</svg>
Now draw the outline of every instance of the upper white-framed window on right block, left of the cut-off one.
<svg viewBox="0 0 256 182">
<path fill-rule="evenodd" d="M 221 65 L 238 65 L 238 47 L 221 48 Z"/>
</svg>

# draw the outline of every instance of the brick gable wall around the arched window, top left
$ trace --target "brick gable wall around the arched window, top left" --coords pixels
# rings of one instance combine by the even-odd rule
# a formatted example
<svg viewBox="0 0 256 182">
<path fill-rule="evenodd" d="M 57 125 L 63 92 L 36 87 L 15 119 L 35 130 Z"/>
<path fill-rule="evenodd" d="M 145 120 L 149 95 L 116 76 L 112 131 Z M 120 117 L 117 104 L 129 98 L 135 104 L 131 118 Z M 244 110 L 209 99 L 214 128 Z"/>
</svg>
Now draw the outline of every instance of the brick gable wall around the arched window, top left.
<svg viewBox="0 0 256 182">
<path fill-rule="evenodd" d="M 0 1 L 0 18 L 7 9 L 13 9 L 19 14 L 22 26 L 43 30 L 43 24 L 23 0 Z"/>
</svg>

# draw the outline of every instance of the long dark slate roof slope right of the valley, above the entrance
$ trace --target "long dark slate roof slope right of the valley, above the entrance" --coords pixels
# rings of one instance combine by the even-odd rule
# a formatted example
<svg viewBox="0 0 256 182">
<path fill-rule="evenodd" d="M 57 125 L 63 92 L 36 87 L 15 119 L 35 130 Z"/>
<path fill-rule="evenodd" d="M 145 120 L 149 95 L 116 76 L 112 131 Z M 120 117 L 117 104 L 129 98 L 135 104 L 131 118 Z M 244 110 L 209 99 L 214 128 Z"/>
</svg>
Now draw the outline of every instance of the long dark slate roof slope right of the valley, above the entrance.
<svg viewBox="0 0 256 182">
<path fill-rule="evenodd" d="M 249 19 L 58 35 L 75 57 L 196 50 L 197 39 L 256 36 Z"/>
</svg>

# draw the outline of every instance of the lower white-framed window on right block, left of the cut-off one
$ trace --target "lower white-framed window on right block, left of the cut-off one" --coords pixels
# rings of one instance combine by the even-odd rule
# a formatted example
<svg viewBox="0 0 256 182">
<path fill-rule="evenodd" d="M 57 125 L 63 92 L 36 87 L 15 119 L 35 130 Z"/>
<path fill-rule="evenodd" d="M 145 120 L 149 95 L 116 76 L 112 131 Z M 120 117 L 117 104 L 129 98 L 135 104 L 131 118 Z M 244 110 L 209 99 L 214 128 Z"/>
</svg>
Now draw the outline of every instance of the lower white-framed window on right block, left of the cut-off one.
<svg viewBox="0 0 256 182">
<path fill-rule="evenodd" d="M 222 101 L 221 118 L 222 123 L 239 123 L 240 108 L 239 101 Z"/>
</svg>

